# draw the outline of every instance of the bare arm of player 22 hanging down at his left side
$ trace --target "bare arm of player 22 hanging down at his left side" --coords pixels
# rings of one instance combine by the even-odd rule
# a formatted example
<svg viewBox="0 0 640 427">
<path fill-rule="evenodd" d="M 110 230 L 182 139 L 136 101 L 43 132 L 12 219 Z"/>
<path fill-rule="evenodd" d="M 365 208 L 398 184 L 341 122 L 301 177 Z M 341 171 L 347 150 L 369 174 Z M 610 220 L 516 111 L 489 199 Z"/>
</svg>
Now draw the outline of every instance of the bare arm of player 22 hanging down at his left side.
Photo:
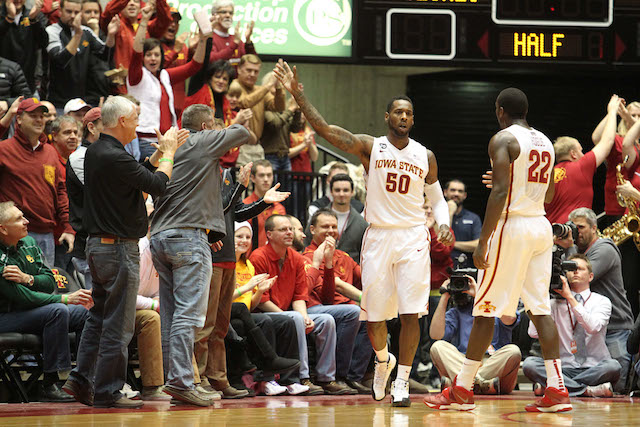
<svg viewBox="0 0 640 427">
<path fill-rule="evenodd" d="M 489 158 L 493 165 L 493 177 L 491 194 L 487 201 L 487 209 L 480 231 L 480 241 L 478 247 L 473 252 L 473 263 L 479 269 L 489 267 L 487 262 L 487 242 L 493 230 L 498 225 L 500 215 L 504 209 L 509 194 L 509 183 L 511 181 L 511 162 L 517 158 L 517 154 L 509 152 L 509 144 L 517 145 L 515 138 L 507 133 L 500 132 L 494 135 L 489 142 Z"/>
</svg>

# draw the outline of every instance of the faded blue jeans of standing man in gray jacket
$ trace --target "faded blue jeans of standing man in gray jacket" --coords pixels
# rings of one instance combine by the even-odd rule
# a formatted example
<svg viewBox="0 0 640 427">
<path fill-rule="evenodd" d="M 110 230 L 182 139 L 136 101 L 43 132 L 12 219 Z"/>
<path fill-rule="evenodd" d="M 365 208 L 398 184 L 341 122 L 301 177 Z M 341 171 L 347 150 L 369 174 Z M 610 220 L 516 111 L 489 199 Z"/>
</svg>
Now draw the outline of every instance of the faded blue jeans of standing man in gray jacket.
<svg viewBox="0 0 640 427">
<path fill-rule="evenodd" d="M 204 230 L 174 228 L 151 236 L 160 276 L 162 363 L 166 384 L 192 390 L 193 342 L 204 326 L 213 266 Z"/>
</svg>

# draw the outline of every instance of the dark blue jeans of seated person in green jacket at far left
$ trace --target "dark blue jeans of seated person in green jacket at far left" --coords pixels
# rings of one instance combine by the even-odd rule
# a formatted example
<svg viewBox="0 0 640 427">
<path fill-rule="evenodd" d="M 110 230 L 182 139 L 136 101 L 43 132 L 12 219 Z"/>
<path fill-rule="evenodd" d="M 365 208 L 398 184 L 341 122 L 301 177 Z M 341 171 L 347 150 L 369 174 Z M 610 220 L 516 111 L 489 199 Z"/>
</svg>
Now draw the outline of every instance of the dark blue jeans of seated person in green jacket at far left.
<svg viewBox="0 0 640 427">
<path fill-rule="evenodd" d="M 45 372 L 71 369 L 69 332 L 79 338 L 89 312 L 81 305 L 48 304 L 25 311 L 0 313 L 0 333 L 42 335 Z"/>
</svg>

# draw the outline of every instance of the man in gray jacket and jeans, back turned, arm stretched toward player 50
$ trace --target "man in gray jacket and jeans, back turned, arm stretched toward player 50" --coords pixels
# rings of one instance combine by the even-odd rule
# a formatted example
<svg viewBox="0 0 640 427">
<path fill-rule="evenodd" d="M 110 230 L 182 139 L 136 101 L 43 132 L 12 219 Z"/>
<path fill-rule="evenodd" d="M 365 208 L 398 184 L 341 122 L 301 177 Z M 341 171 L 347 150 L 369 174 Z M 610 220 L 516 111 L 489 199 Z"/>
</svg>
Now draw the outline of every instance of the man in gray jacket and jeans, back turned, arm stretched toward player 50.
<svg viewBox="0 0 640 427">
<path fill-rule="evenodd" d="M 166 193 L 155 200 L 151 253 L 160 276 L 165 392 L 209 406 L 212 400 L 195 390 L 191 359 L 196 330 L 206 316 L 212 274 L 209 238 L 225 236 L 218 160 L 255 137 L 240 125 L 213 130 L 213 110 L 200 104 L 185 109 L 182 125 L 191 135 L 176 151 Z"/>
</svg>

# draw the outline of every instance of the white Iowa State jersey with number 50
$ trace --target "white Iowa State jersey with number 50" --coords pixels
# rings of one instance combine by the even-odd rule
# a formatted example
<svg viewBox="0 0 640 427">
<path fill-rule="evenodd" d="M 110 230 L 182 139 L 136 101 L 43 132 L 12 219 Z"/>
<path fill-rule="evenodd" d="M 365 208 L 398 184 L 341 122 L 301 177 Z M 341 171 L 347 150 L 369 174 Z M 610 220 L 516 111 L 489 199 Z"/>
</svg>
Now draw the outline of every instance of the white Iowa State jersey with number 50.
<svg viewBox="0 0 640 427">
<path fill-rule="evenodd" d="M 364 218 L 374 227 L 415 227 L 426 223 L 424 180 L 429 172 L 427 149 L 409 139 L 402 150 L 386 136 L 373 140 Z"/>
</svg>

